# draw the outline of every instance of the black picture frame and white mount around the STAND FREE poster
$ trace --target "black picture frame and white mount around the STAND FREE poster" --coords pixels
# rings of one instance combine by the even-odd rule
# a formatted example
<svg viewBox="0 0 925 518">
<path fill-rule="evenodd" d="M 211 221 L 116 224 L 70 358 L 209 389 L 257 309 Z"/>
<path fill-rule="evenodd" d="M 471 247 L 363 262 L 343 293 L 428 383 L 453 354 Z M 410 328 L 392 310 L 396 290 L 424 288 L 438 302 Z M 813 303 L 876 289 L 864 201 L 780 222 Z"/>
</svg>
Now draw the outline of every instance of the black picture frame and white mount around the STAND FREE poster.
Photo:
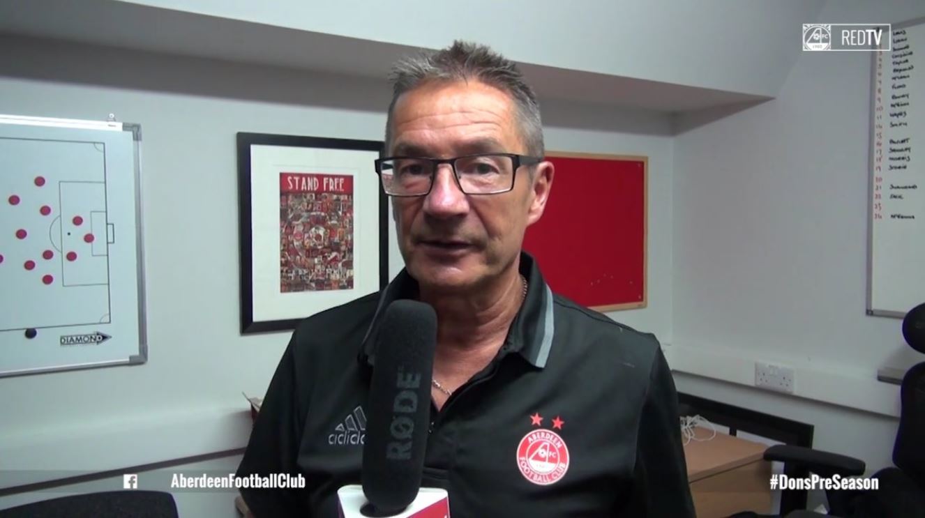
<svg viewBox="0 0 925 518">
<path fill-rule="evenodd" d="M 385 288 L 388 284 L 388 196 L 382 190 L 374 166 L 374 160 L 382 156 L 383 142 L 239 132 L 237 150 L 241 334 L 294 329 L 306 316 L 348 302 L 348 297 L 352 300 Z M 284 175 L 352 176 L 358 180 L 351 181 L 353 236 L 350 253 L 353 259 L 356 258 L 354 253 L 359 254 L 361 248 L 364 253 L 361 256 L 363 261 L 353 262 L 349 266 L 350 290 L 283 291 L 283 281 L 280 280 L 283 274 L 279 273 L 282 253 L 279 249 L 282 227 L 280 198 L 283 195 L 282 185 L 286 181 Z M 274 188 L 268 182 L 276 186 L 272 209 L 270 191 Z M 375 192 L 371 186 L 375 186 Z M 376 206 L 367 206 L 374 199 Z M 275 216 L 270 216 L 271 210 L 275 210 Z M 271 219 L 276 222 L 272 228 L 268 225 Z M 364 240 L 360 235 L 360 228 L 377 230 L 374 234 L 377 236 L 375 248 L 373 243 L 368 242 L 368 238 Z M 362 233 L 366 235 L 367 232 Z M 256 254 L 255 238 L 259 245 Z M 271 241 L 275 242 L 275 252 L 267 250 Z M 276 257 L 275 265 L 273 257 Z M 361 276 L 364 265 L 360 263 L 368 263 L 371 257 L 376 257 L 378 267 L 366 268 Z M 276 272 L 270 271 L 270 265 L 273 265 Z M 259 274 L 257 278 L 254 276 L 255 270 Z M 377 271 L 374 274 L 369 270 Z M 267 278 L 277 279 L 275 288 L 272 288 L 273 283 L 267 282 Z M 333 293 L 335 291 L 338 293 Z M 291 297 L 289 300 L 292 303 L 285 302 L 287 297 Z"/>
</svg>

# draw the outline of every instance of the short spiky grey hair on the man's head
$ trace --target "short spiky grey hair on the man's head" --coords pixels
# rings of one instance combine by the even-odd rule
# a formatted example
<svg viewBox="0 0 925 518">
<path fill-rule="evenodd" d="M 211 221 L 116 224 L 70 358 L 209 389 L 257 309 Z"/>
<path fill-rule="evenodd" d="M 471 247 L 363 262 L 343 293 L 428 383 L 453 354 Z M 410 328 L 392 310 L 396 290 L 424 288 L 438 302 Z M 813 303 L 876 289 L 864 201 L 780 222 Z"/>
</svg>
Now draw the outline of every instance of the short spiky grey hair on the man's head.
<svg viewBox="0 0 925 518">
<path fill-rule="evenodd" d="M 457 40 L 450 48 L 405 57 L 392 67 L 389 79 L 394 90 L 388 105 L 386 149 L 391 146 L 393 137 L 392 112 L 402 93 L 431 80 L 479 80 L 511 96 L 527 153 L 543 156 L 543 124 L 536 94 L 524 82 L 524 76 L 513 61 L 486 45 Z"/>
</svg>

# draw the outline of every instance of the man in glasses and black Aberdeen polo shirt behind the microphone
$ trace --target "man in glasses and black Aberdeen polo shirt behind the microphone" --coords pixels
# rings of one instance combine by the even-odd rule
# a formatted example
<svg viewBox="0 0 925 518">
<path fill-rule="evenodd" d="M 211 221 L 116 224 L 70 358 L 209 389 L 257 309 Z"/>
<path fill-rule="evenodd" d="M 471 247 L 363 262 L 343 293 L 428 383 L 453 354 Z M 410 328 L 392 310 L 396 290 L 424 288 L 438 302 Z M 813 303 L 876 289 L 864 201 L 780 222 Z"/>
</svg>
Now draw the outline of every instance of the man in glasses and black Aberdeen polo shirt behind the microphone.
<svg viewBox="0 0 925 518">
<path fill-rule="evenodd" d="M 459 42 L 394 80 L 376 172 L 405 269 L 293 333 L 239 475 L 307 487 L 244 491 L 253 514 L 337 515 L 338 488 L 360 481 L 382 308 L 412 298 L 438 315 L 424 485 L 453 516 L 693 516 L 658 341 L 553 295 L 521 252 L 554 173 L 534 93 Z"/>
</svg>

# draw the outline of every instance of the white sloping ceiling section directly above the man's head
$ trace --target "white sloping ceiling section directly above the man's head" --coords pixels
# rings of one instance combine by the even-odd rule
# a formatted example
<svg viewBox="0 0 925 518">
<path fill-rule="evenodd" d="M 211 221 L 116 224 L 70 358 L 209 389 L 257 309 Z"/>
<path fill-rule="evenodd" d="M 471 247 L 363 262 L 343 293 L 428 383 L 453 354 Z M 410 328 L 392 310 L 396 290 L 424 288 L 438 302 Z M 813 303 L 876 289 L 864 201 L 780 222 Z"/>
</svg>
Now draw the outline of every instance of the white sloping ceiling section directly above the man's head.
<svg viewBox="0 0 925 518">
<path fill-rule="evenodd" d="M 455 4 L 447 9 L 428 0 L 121 1 L 413 47 L 471 39 L 490 42 L 524 63 L 758 95 L 776 93 L 793 63 L 798 47 L 782 33 L 797 39 L 800 23 L 822 5 L 821 0 L 470 0 L 464 9 Z M 702 73 L 705 68 L 709 74 Z"/>
</svg>

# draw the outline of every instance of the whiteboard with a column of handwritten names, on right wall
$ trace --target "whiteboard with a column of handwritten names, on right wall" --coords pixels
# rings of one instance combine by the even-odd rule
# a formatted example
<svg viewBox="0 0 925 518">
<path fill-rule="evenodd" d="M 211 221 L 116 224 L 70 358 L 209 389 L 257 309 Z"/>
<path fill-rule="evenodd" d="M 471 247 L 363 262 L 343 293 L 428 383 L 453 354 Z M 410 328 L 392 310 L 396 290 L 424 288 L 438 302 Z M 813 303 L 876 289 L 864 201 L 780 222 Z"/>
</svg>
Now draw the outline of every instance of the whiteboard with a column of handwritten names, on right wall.
<svg viewBox="0 0 925 518">
<path fill-rule="evenodd" d="M 872 65 L 867 310 L 902 317 L 925 302 L 925 19 L 892 29 Z"/>
</svg>

